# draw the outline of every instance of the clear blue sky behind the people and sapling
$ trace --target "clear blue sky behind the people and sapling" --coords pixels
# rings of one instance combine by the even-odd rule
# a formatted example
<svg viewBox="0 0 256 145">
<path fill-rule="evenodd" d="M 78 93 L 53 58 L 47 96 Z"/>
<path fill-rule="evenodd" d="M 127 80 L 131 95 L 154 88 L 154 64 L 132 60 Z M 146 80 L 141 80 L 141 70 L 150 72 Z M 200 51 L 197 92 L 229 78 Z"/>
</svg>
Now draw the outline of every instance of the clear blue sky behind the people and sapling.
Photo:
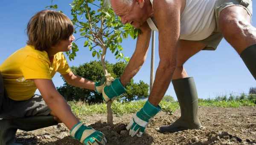
<svg viewBox="0 0 256 145">
<path fill-rule="evenodd" d="M 71 2 L 72 0 L 54 1 L 55 4 L 58 4 L 59 10 L 62 10 L 70 18 L 72 17 L 69 6 Z M 51 0 L 1 0 L 0 64 L 17 49 L 26 45 L 26 24 L 33 14 L 45 9 L 45 6 L 50 4 Z M 253 9 L 256 9 L 255 4 L 253 4 Z M 253 16 L 253 26 L 256 26 L 256 16 Z M 79 38 L 79 35 L 75 35 L 75 37 Z M 79 66 L 85 62 L 96 60 L 88 48 L 83 47 L 83 40 L 79 40 L 77 44 L 80 51 L 74 61 L 69 61 L 70 66 Z M 123 41 L 125 56 L 131 57 L 135 44 L 136 40 L 133 39 Z M 155 55 L 156 70 L 159 63 L 158 34 L 156 35 Z M 134 77 L 136 82 L 143 80 L 149 84 L 150 56 L 151 50 L 149 50 L 148 57 L 140 72 Z M 111 63 L 116 62 L 111 53 L 107 53 L 106 60 Z M 239 95 L 240 93 L 248 93 L 250 87 L 256 87 L 256 81 L 240 56 L 225 40 L 221 41 L 217 50 L 201 51 L 190 58 L 184 66 L 189 76 L 193 76 L 195 79 L 199 98 L 214 98 L 230 93 Z M 58 73 L 53 78 L 53 82 L 55 86 L 63 84 Z M 176 98 L 172 84 L 170 84 L 166 94 Z"/>
</svg>

